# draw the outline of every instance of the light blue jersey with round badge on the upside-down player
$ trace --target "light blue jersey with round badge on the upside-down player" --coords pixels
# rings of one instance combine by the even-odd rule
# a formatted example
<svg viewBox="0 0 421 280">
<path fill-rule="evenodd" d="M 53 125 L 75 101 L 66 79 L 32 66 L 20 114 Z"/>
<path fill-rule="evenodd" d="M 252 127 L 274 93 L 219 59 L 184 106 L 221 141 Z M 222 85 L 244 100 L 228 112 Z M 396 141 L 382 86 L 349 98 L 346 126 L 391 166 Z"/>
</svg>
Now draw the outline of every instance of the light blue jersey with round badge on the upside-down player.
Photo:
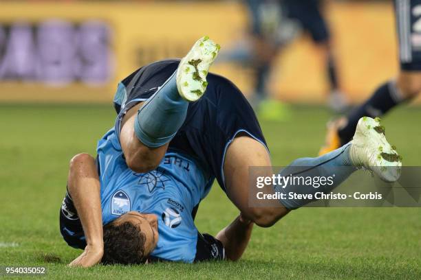
<svg viewBox="0 0 421 280">
<path fill-rule="evenodd" d="M 116 131 L 98 142 L 102 222 L 129 211 L 158 216 L 158 245 L 153 257 L 193 262 L 198 231 L 193 209 L 210 190 L 213 177 L 177 152 L 167 152 L 156 170 L 140 174 L 127 167 Z"/>
</svg>

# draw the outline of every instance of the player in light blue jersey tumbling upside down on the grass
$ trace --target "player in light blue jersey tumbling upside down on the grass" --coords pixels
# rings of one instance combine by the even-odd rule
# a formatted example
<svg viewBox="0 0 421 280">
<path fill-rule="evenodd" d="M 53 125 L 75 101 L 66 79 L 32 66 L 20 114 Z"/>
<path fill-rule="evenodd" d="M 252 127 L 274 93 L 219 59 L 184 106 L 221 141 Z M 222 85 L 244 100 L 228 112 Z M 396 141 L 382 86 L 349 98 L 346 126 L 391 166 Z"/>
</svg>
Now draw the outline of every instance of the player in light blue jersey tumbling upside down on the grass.
<svg viewBox="0 0 421 280">
<path fill-rule="evenodd" d="M 101 259 L 221 259 L 221 245 L 228 259 L 238 259 L 252 223 L 271 226 L 313 201 L 287 198 L 277 207 L 249 205 L 249 167 L 270 167 L 270 156 L 244 95 L 225 78 L 208 74 L 218 51 L 204 37 L 181 61 L 154 62 L 119 84 L 116 125 L 99 141 L 96 165 L 91 156 L 80 154 L 70 166 L 61 233 L 69 245 L 85 248 L 72 266 L 93 266 Z M 328 193 L 358 167 L 397 180 L 401 162 L 380 128 L 378 121 L 362 118 L 347 145 L 318 158 L 297 159 L 280 172 L 289 176 L 290 168 L 299 166 L 307 167 L 300 176 L 336 174 L 332 185 L 273 185 L 262 191 Z M 272 176 L 266 170 L 261 175 Z M 241 213 L 216 239 L 201 237 L 193 222 L 215 178 Z M 133 252 L 138 257 L 128 260 Z M 202 252 L 207 256 L 200 257 Z"/>
</svg>

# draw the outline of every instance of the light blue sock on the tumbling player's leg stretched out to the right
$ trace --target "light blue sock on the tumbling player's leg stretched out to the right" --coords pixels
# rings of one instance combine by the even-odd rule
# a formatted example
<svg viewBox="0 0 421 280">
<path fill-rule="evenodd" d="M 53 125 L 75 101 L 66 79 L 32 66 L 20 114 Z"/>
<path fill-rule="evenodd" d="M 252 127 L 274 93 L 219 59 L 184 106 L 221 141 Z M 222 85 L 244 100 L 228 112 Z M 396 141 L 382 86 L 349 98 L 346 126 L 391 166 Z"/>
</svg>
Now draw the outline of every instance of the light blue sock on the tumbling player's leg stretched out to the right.
<svg viewBox="0 0 421 280">
<path fill-rule="evenodd" d="M 323 192 L 325 194 L 330 193 L 332 189 L 340 185 L 346 178 L 349 177 L 356 167 L 352 165 L 351 159 L 349 159 L 349 148 L 351 143 L 343 145 L 338 150 L 334 150 L 323 156 L 316 158 L 303 158 L 296 159 L 288 167 L 285 167 L 279 173 L 281 176 L 292 177 L 324 177 L 327 178 L 332 176 L 332 184 L 318 184 L 319 187 L 313 185 L 306 185 L 302 183 L 302 180 L 295 180 L 295 183 L 289 183 L 288 185 L 275 185 L 274 190 L 285 194 L 285 199 L 281 200 L 281 204 L 288 209 L 296 209 L 315 201 L 314 194 L 316 192 Z M 294 199 L 288 198 L 288 193 L 293 192 L 296 194 L 312 194 L 313 199 Z"/>
</svg>

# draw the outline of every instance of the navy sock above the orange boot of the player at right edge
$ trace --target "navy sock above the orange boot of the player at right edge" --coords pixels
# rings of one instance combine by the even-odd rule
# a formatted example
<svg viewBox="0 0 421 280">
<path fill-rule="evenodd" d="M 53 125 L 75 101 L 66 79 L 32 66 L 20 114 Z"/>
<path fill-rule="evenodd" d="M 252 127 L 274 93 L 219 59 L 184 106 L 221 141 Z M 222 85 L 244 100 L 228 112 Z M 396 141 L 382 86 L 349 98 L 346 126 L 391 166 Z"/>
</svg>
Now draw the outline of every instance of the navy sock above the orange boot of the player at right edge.
<svg viewBox="0 0 421 280">
<path fill-rule="evenodd" d="M 362 117 L 380 117 L 391 108 L 403 102 L 404 99 L 396 82 L 389 80 L 382 84 L 363 105 L 354 109 L 348 116 L 346 126 L 338 130 L 341 143 L 348 143 L 354 137 L 358 120 Z"/>
</svg>

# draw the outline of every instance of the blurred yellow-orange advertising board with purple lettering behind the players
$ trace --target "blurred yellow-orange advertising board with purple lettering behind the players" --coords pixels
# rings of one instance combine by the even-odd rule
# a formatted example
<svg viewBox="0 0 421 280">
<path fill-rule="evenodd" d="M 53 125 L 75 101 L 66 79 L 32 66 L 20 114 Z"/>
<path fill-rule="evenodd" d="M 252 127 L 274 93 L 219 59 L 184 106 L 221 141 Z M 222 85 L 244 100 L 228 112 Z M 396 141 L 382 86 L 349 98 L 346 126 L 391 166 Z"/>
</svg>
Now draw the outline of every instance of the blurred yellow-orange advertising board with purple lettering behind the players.
<svg viewBox="0 0 421 280">
<path fill-rule="evenodd" d="M 340 90 L 351 103 L 364 100 L 398 69 L 392 3 L 320 2 Z M 203 35 L 222 45 L 213 71 L 246 95 L 253 93 L 255 67 L 226 58 L 251 44 L 246 1 L 0 5 L 0 102 L 110 102 L 119 80 L 154 60 L 183 56 Z M 299 24 L 290 23 L 277 25 L 283 42 L 267 77 L 268 92 L 285 102 L 322 104 L 330 91 L 323 51 Z"/>
</svg>

